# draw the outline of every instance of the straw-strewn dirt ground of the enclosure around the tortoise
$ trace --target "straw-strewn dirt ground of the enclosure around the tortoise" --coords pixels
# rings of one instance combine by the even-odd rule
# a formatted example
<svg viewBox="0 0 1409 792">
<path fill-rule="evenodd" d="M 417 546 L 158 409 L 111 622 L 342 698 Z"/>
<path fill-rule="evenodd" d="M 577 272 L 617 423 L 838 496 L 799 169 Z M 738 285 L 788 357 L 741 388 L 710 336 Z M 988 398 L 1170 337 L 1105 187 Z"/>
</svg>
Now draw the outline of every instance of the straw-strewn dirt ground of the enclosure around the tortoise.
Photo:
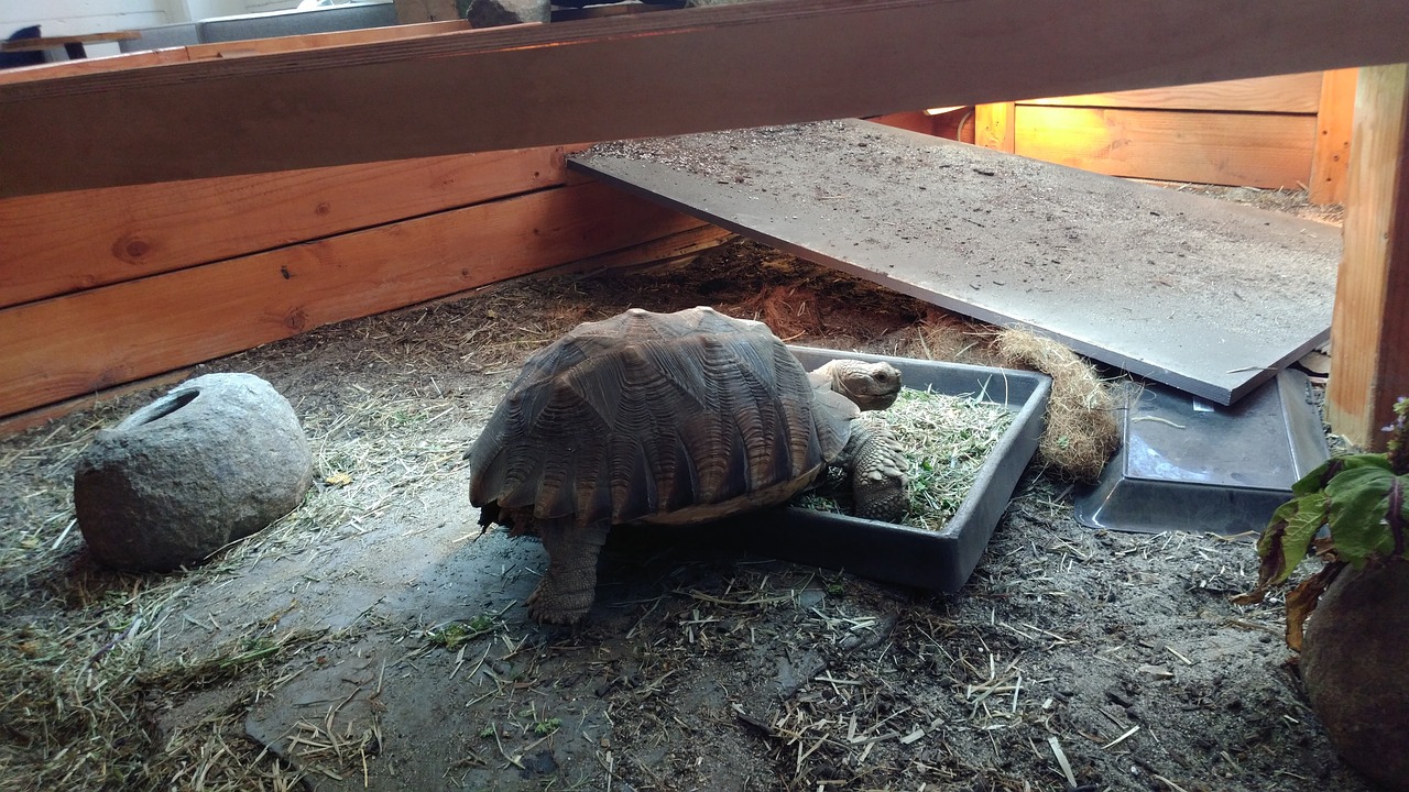
<svg viewBox="0 0 1409 792">
<path fill-rule="evenodd" d="M 196 372 L 272 382 L 318 481 L 178 575 L 97 569 L 72 523 L 75 455 L 165 388 L 3 438 L 0 789 L 1370 789 L 1278 603 L 1229 603 L 1246 538 L 1092 531 L 1040 465 L 958 595 L 664 541 L 609 547 L 582 627 L 530 623 L 545 557 L 480 533 L 464 451 L 530 351 L 700 303 L 991 362 L 983 327 L 748 242 L 320 328 Z"/>
</svg>

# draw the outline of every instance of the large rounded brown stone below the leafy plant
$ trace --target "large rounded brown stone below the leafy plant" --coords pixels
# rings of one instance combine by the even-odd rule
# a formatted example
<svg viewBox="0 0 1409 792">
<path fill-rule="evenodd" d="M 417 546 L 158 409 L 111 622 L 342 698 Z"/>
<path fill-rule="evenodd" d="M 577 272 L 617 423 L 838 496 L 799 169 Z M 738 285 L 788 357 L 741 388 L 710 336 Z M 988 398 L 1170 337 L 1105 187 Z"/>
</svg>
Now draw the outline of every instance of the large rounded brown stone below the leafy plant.
<svg viewBox="0 0 1409 792">
<path fill-rule="evenodd" d="M 1346 568 L 1302 643 L 1302 679 L 1332 745 L 1385 789 L 1409 791 L 1409 562 Z"/>
</svg>

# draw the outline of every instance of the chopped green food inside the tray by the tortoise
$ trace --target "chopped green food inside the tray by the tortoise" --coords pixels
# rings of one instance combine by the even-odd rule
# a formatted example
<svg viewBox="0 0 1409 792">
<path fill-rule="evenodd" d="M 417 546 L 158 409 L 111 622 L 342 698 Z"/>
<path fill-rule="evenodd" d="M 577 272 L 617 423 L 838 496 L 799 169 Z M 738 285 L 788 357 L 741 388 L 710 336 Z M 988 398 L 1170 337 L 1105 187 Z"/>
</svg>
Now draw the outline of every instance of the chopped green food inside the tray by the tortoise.
<svg viewBox="0 0 1409 792">
<path fill-rule="evenodd" d="M 900 524 L 940 530 L 964 503 L 974 479 L 1013 426 L 1013 413 L 975 396 L 950 396 L 905 388 L 888 410 L 867 413 L 906 448 L 910 506 Z M 793 506 L 850 513 L 851 492 L 840 471 L 796 499 Z"/>
</svg>

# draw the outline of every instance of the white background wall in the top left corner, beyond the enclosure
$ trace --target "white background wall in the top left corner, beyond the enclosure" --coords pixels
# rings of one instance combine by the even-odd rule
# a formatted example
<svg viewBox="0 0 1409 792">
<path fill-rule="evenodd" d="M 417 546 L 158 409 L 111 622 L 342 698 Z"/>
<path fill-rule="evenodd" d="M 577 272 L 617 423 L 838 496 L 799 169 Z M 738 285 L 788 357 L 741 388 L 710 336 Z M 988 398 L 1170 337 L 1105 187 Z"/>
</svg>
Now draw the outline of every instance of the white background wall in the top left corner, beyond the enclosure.
<svg viewBox="0 0 1409 792">
<path fill-rule="evenodd" d="M 134 30 L 207 17 L 293 8 L 299 0 L 0 0 L 0 38 L 41 25 L 44 35 Z M 92 44 L 89 56 L 117 55 L 117 44 Z M 62 55 L 61 55 L 62 58 Z"/>
</svg>

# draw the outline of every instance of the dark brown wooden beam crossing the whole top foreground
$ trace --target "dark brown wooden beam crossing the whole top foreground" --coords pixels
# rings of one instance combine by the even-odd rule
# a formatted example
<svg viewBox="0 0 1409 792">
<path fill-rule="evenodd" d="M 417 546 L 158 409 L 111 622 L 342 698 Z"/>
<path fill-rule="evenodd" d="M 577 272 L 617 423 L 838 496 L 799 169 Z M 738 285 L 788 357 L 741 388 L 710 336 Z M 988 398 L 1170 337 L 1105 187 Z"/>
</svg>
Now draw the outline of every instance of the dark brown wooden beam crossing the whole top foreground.
<svg viewBox="0 0 1409 792">
<path fill-rule="evenodd" d="M 0 86 L 0 196 L 1401 62 L 1405 30 L 1403 0 L 775 0 L 75 75 Z"/>
</svg>

